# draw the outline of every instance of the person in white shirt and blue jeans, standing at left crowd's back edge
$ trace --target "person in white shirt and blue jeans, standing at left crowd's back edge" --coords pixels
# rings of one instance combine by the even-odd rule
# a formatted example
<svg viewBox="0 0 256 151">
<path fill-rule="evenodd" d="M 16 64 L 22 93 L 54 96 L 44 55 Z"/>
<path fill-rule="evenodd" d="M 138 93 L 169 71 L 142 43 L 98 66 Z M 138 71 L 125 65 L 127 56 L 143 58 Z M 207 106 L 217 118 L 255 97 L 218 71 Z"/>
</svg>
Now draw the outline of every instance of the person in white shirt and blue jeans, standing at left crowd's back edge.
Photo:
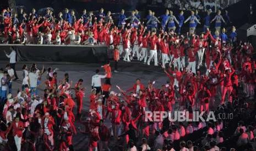
<svg viewBox="0 0 256 151">
<path fill-rule="evenodd" d="M 37 95 L 37 79 L 39 78 L 39 75 L 36 74 L 36 69 L 32 68 L 31 72 L 29 73 L 29 86 L 31 89 L 31 96 Z"/>
</svg>

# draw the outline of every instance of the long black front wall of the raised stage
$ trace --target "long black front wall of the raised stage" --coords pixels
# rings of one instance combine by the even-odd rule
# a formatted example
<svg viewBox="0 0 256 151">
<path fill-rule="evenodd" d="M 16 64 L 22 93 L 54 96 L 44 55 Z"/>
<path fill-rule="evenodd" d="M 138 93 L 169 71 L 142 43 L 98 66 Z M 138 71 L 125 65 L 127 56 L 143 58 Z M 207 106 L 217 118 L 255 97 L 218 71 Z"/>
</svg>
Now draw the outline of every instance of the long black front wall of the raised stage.
<svg viewBox="0 0 256 151">
<path fill-rule="evenodd" d="M 101 63 L 108 60 L 107 47 L 83 45 L 0 45 L 0 60 L 8 60 L 3 50 L 10 53 L 13 46 L 18 61 L 58 61 Z"/>
</svg>

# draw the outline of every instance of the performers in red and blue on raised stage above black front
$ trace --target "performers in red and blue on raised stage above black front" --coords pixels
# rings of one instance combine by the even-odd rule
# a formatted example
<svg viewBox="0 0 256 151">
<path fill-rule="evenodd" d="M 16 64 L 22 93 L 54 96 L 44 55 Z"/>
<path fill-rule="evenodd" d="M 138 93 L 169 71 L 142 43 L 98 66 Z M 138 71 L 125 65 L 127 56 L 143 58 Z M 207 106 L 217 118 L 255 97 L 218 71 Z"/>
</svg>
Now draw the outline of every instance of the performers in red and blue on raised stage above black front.
<svg viewBox="0 0 256 151">
<path fill-rule="evenodd" d="M 43 14 L 37 14 L 35 9 L 32 9 L 31 13 L 27 13 L 23 8 L 18 13 L 11 12 L 12 10 L 7 8 L 0 15 L 1 43 L 123 45 L 124 38 L 126 38 L 125 34 L 130 33 L 134 28 L 140 29 L 136 33 L 137 36 L 143 36 L 145 31 L 151 29 L 159 29 L 161 32 L 168 32 L 169 37 L 173 37 L 172 34 L 176 27 L 177 33 L 184 33 L 182 27 L 188 20 L 191 28 L 197 27 L 197 24 L 202 22 L 205 32 L 213 19 L 211 18 L 211 9 L 204 11 L 205 16 L 200 16 L 198 10 L 195 10 L 191 13 L 193 18 L 190 19 L 189 17 L 188 20 L 185 20 L 183 11 L 176 18 L 171 10 L 166 10 L 166 13 L 159 17 L 156 17 L 155 13 L 149 10 L 145 19 L 141 18 L 138 10 L 132 11 L 130 16 L 126 16 L 125 11 L 122 10 L 117 20 L 112 18 L 111 11 L 107 11 L 105 14 L 104 9 L 101 9 L 97 14 L 93 14 L 92 11 L 88 13 L 84 9 L 80 16 L 75 14 L 74 10 L 69 9 L 58 14 L 53 14 L 51 9 L 46 9 Z M 221 22 L 230 24 L 227 11 L 223 13 L 223 16 L 221 13 L 217 13 L 214 20 L 216 28 L 221 27 Z M 130 36 L 132 34 L 128 37 Z M 121 37 L 121 42 L 117 43 Z M 139 39 L 139 44 L 141 39 Z"/>
</svg>

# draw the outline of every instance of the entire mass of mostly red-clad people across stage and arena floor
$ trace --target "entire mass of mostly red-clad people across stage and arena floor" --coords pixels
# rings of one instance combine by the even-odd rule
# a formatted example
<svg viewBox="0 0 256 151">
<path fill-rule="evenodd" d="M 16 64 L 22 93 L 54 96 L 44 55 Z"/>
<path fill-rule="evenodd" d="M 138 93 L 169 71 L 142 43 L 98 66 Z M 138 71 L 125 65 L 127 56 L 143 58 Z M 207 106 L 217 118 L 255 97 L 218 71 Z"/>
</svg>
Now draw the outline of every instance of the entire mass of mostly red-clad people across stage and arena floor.
<svg viewBox="0 0 256 151">
<path fill-rule="evenodd" d="M 122 85 L 111 82 L 108 61 L 102 66 L 105 74 L 96 69 L 92 89 L 87 90 L 83 81 L 88 79 L 78 79 L 73 86 L 67 73 L 57 80 L 58 69 L 39 69 L 34 63 L 31 67 L 23 66 L 22 84 L 16 95 L 12 83 L 21 77 L 15 69 L 17 54 L 10 48 L 12 52 L 6 52 L 10 64 L 0 69 L 2 148 L 74 150 L 74 135 L 84 133 L 88 135 L 90 151 L 255 150 L 255 107 L 250 101 L 255 98 L 254 49 L 249 42 L 237 39 L 235 27 L 227 36 L 222 23 L 230 20 L 222 17 L 221 11 L 215 18 L 210 18 L 210 13 L 207 11 L 200 18 L 197 11 L 191 11 L 185 19 L 183 11 L 176 18 L 166 10 L 160 21 L 149 11 L 144 24 L 138 11 L 127 18 L 122 10 L 115 24 L 111 12 L 105 15 L 104 9 L 96 16 L 84 10 L 79 19 L 68 9 L 57 18 L 50 10 L 44 16 L 37 15 L 35 9 L 29 15 L 21 11 L 14 16 L 10 10 L 4 10 L 6 43 L 106 44 L 113 50 L 116 72 L 120 59 L 137 59 L 147 65 L 154 62 L 169 82 L 156 88 L 154 82 L 143 84 L 137 79 L 130 89 L 123 90 Z M 181 34 L 186 22 L 189 32 Z M 211 22 L 215 22 L 214 33 L 209 29 Z M 204 32 L 197 35 L 198 24 L 204 24 Z M 42 76 L 47 80 L 42 81 Z M 42 84 L 43 94 L 38 90 Z M 119 92 L 112 91 L 113 87 Z M 84 96 L 84 91 L 90 91 L 90 96 Z M 85 100 L 90 100 L 90 107 L 83 119 Z M 233 118 L 207 122 L 171 122 L 166 118 L 146 122 L 145 111 L 199 111 L 204 112 L 204 118 L 214 111 L 216 117 L 222 113 L 232 114 Z M 111 127 L 106 126 L 107 122 Z M 83 124 L 83 129 L 77 129 L 75 123 Z"/>
</svg>

